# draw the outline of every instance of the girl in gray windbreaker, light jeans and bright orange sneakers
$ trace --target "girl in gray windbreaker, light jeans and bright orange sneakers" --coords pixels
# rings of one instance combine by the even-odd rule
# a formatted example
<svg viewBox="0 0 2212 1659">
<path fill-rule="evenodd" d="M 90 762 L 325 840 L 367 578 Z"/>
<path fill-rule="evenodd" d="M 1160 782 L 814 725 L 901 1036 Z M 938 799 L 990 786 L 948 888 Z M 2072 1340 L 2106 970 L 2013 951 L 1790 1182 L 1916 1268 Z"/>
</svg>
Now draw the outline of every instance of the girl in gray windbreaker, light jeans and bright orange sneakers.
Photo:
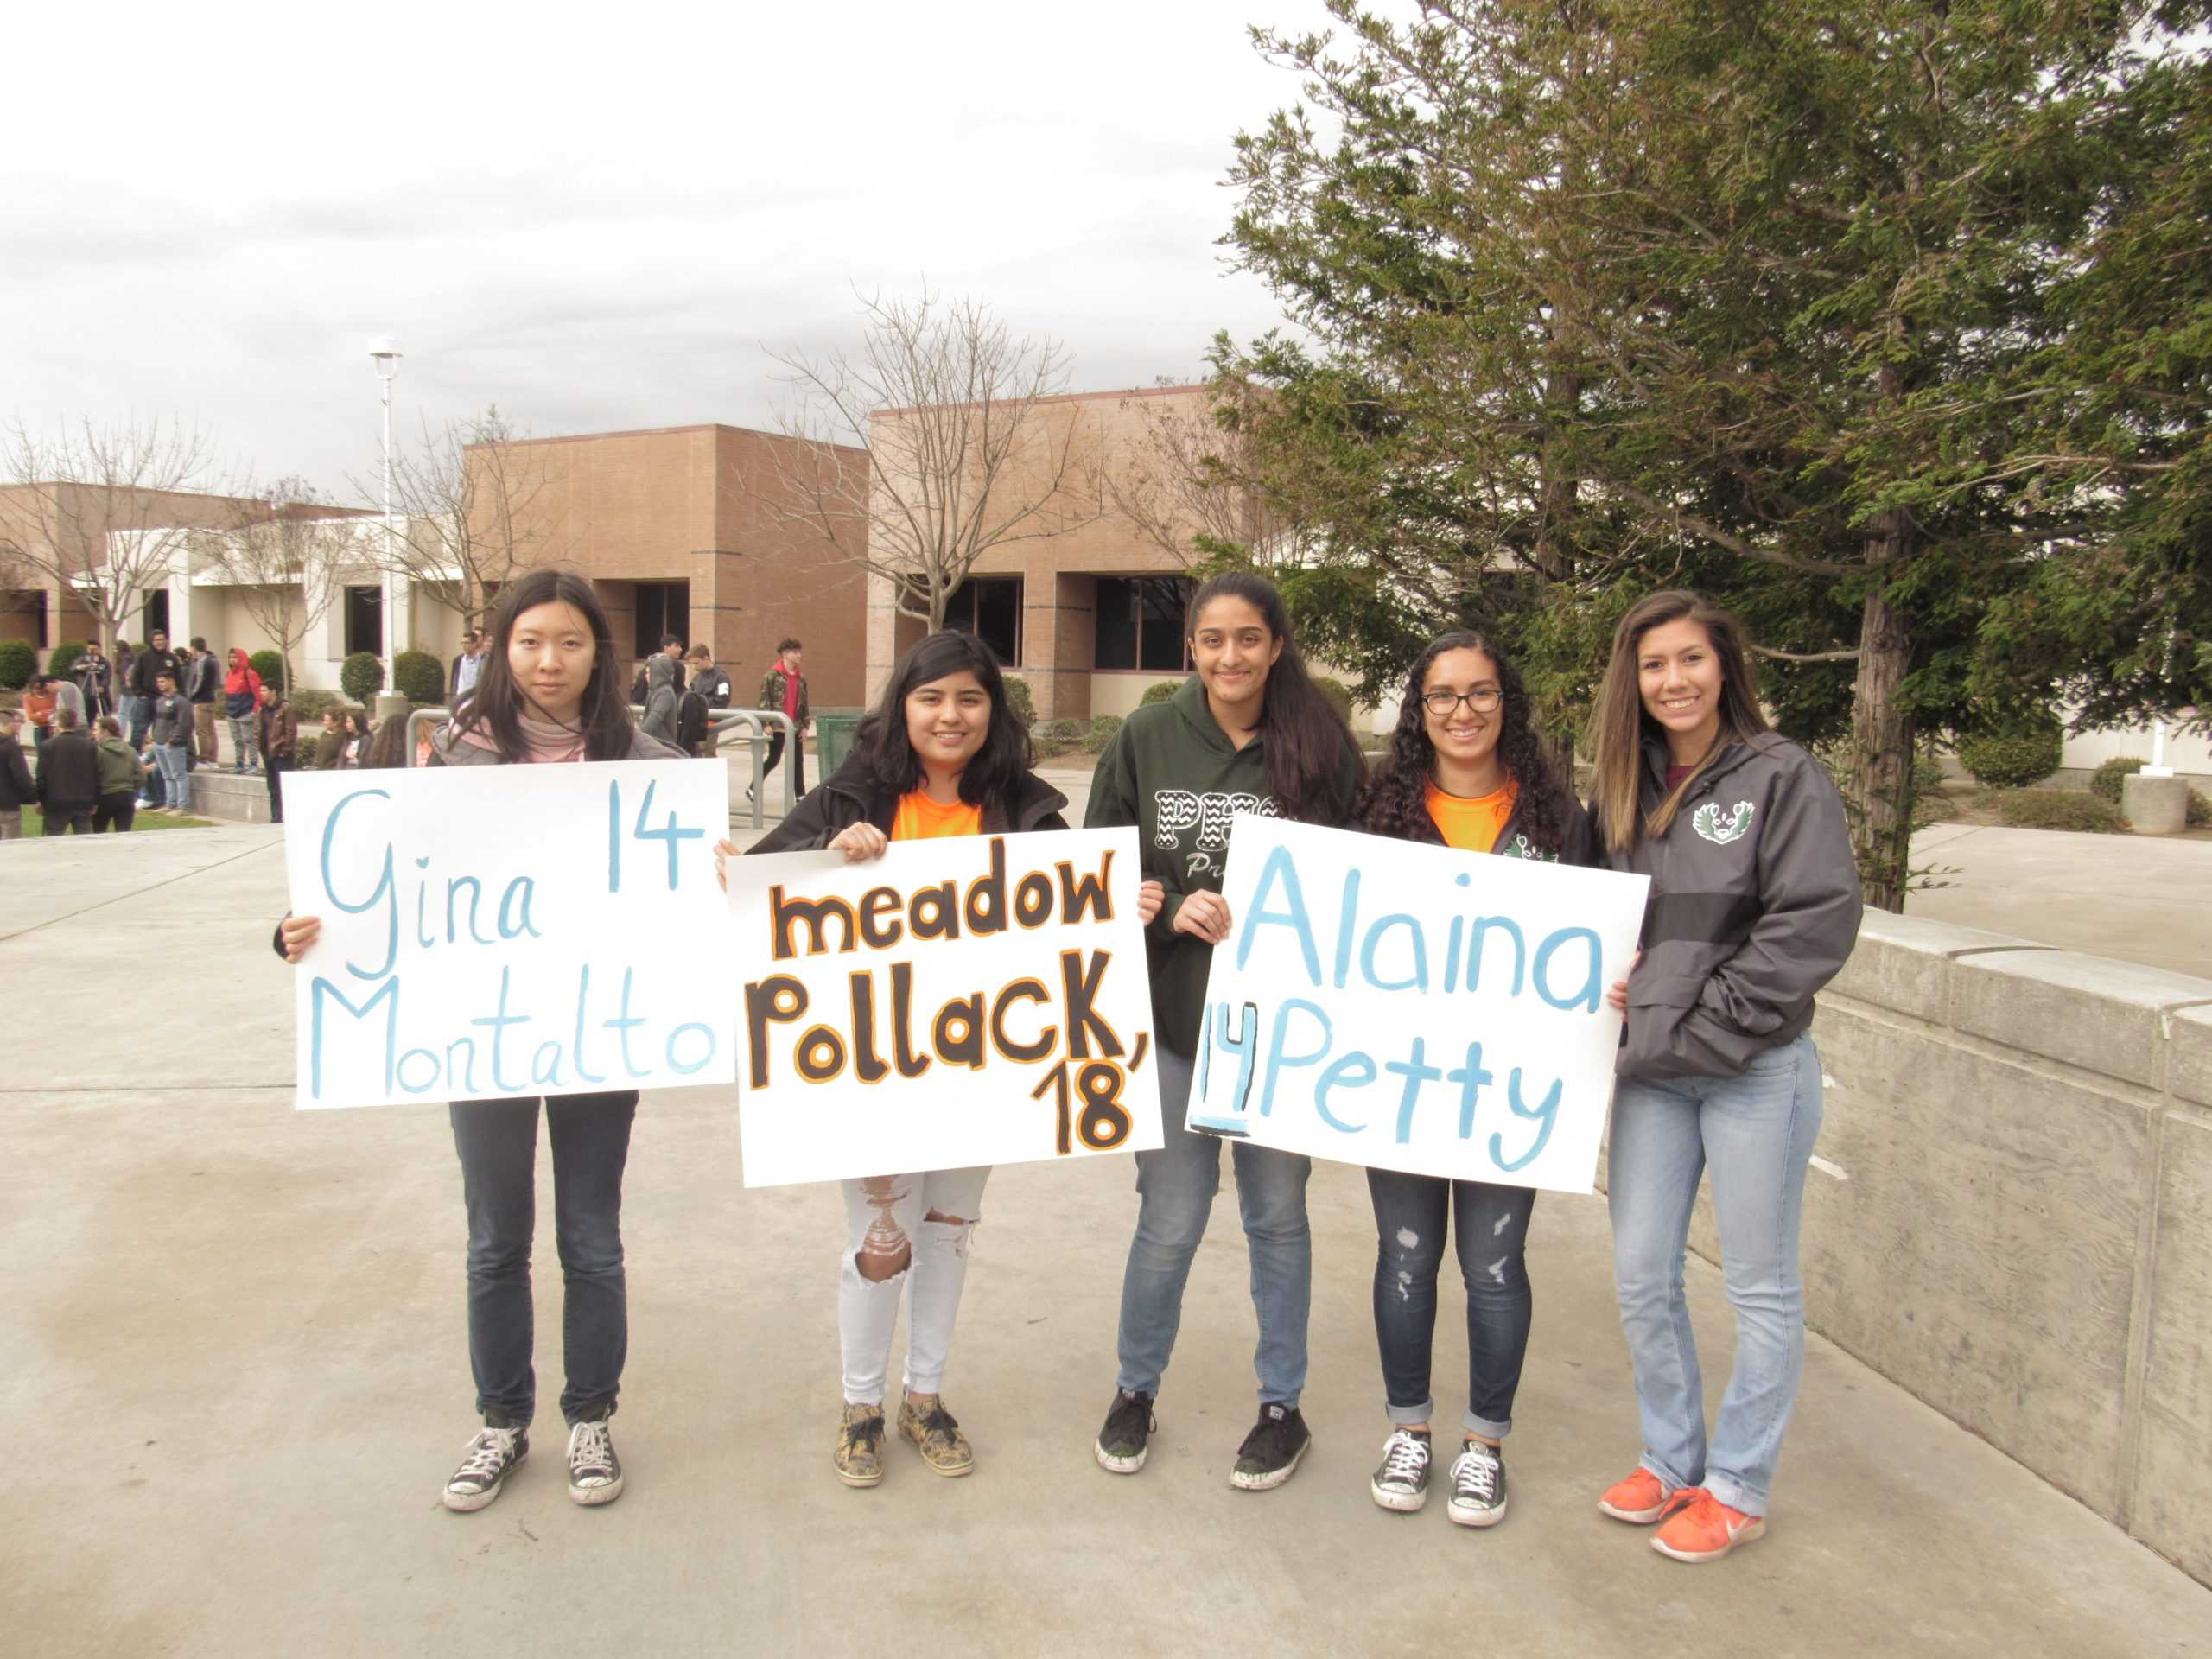
<svg viewBox="0 0 2212 1659">
<path fill-rule="evenodd" d="M 1820 1130 L 1814 993 L 1858 938 L 1858 865 L 1827 770 L 1767 730 L 1736 619 L 1694 593 L 1621 617 L 1597 710 L 1597 825 L 1652 880 L 1644 951 L 1610 1000 L 1613 1274 L 1644 1458 L 1599 1500 L 1712 1562 L 1765 1533 L 1805 1367 L 1798 1225 Z M 1705 1438 L 1683 1241 L 1712 1172 L 1736 1363 Z"/>
</svg>

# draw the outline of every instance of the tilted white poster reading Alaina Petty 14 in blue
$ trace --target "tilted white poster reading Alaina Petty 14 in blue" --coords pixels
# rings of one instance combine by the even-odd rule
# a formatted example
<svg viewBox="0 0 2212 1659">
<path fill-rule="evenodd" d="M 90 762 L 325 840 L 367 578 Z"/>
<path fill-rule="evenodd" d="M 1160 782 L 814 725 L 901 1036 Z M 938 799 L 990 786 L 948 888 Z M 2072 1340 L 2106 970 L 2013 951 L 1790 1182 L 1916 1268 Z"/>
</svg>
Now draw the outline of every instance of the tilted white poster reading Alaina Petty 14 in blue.
<svg viewBox="0 0 2212 1659">
<path fill-rule="evenodd" d="M 1239 816 L 1190 1128 L 1588 1192 L 1646 887 Z"/>
</svg>

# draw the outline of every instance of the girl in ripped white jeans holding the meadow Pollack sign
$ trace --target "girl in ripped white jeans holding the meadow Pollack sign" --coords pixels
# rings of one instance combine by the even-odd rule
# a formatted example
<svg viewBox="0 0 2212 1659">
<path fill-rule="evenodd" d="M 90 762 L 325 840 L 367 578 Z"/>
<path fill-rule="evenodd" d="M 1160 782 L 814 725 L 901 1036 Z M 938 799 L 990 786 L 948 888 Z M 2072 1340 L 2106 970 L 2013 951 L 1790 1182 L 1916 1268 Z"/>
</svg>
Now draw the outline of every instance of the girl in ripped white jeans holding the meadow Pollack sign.
<svg viewBox="0 0 2212 1659">
<path fill-rule="evenodd" d="M 1029 770 L 1031 759 L 1029 728 L 1006 701 L 991 648 L 973 635 L 933 633 L 891 670 L 845 765 L 752 852 L 827 847 L 847 863 L 865 863 L 894 841 L 1066 830 L 1060 810 L 1068 799 Z M 719 852 L 728 858 L 737 847 L 726 841 Z M 945 1363 L 989 1179 L 984 1166 L 841 1183 L 847 1234 L 836 1314 L 845 1407 L 832 1464 L 847 1486 L 883 1482 L 883 1396 L 902 1296 L 907 1374 L 898 1433 L 940 1475 L 975 1467 L 960 1420 L 945 1409 Z"/>
</svg>

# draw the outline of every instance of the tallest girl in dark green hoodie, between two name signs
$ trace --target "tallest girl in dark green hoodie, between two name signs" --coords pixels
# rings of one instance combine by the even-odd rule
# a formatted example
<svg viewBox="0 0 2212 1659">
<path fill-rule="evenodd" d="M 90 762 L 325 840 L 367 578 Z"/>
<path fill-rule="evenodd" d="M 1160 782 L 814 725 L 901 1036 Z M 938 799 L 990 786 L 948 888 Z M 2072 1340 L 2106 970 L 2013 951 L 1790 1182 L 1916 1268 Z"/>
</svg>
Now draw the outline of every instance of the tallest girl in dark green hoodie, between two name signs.
<svg viewBox="0 0 2212 1659">
<path fill-rule="evenodd" d="M 1214 945 L 1230 933 L 1221 898 L 1230 823 L 1239 812 L 1263 812 L 1338 827 L 1360 781 L 1358 745 L 1305 672 L 1272 582 L 1241 571 L 1212 577 L 1190 599 L 1186 637 L 1197 675 L 1115 732 L 1084 818 L 1091 830 L 1139 825 L 1144 867 L 1164 894 L 1146 942 L 1166 1144 L 1137 1152 L 1121 1367 L 1093 1447 L 1099 1467 L 1117 1475 L 1144 1469 L 1150 1451 L 1152 1400 L 1175 1352 L 1190 1259 L 1221 1190 L 1221 1141 L 1183 1124 L 1206 975 Z M 1259 1422 L 1237 1449 L 1230 1484 L 1267 1491 L 1290 1480 L 1312 1444 L 1298 1411 L 1314 1290 L 1305 1221 L 1312 1159 L 1239 1141 L 1234 1164 L 1259 1314 Z"/>
</svg>

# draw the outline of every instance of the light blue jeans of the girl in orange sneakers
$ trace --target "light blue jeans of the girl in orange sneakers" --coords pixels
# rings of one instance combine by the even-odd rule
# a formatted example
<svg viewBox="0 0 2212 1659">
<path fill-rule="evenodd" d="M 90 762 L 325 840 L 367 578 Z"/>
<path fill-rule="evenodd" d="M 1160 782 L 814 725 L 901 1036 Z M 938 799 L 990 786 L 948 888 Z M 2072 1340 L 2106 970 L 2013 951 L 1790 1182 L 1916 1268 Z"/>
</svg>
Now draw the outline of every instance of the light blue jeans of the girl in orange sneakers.
<svg viewBox="0 0 2212 1659">
<path fill-rule="evenodd" d="M 1820 1133 L 1812 1037 L 1770 1048 L 1741 1077 L 1624 1077 L 1613 1095 L 1613 1281 L 1637 1374 L 1644 1467 L 1767 1513 L 1783 1429 L 1805 1371 L 1798 1225 Z M 1721 1276 L 1736 1310 L 1736 1365 L 1705 1442 L 1705 1394 L 1681 1290 L 1690 1206 L 1712 1170 Z"/>
</svg>

